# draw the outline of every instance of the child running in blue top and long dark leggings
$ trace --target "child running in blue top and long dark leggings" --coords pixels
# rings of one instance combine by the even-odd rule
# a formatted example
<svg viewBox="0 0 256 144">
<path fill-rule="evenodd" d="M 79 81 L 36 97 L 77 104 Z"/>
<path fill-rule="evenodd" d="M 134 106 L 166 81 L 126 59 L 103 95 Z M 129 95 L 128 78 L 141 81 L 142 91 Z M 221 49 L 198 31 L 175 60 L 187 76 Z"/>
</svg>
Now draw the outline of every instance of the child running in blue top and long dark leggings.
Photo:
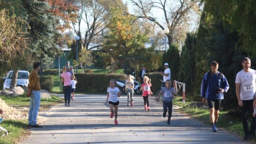
<svg viewBox="0 0 256 144">
<path fill-rule="evenodd" d="M 166 80 L 165 87 L 160 91 L 160 93 L 156 98 L 156 100 L 159 99 L 159 97 L 163 94 L 163 108 L 164 108 L 163 117 L 166 116 L 166 113 L 168 110 L 167 125 L 170 125 L 170 120 L 173 113 L 173 98 L 174 98 L 174 95 L 175 96 L 177 95 L 174 88 L 172 88 L 171 85 L 172 85 L 172 81 Z"/>
</svg>

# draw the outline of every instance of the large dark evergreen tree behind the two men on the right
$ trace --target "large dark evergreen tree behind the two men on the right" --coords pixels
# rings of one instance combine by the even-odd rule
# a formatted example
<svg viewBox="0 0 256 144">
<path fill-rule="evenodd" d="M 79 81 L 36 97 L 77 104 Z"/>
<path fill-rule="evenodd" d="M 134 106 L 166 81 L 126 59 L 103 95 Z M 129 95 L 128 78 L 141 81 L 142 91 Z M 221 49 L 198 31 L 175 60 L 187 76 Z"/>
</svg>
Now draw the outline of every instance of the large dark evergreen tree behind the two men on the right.
<svg viewBox="0 0 256 144">
<path fill-rule="evenodd" d="M 224 100 L 221 101 L 221 105 L 224 109 L 231 111 L 237 108 L 236 74 L 242 70 L 242 58 L 248 55 L 245 52 L 235 50 L 235 45 L 240 37 L 238 31 L 231 31 L 232 25 L 228 25 L 228 21 L 224 21 L 218 13 L 211 15 L 204 11 L 200 25 L 196 50 L 196 67 L 198 70 L 200 69 L 197 71 L 197 77 L 200 77 L 197 93 L 200 92 L 203 75 L 210 71 L 210 62 L 217 61 L 219 63 L 218 71 L 225 75 L 230 86 L 229 91 L 224 95 Z M 251 61 L 253 62 L 255 59 Z M 254 66 L 252 65 L 252 68 Z"/>
</svg>

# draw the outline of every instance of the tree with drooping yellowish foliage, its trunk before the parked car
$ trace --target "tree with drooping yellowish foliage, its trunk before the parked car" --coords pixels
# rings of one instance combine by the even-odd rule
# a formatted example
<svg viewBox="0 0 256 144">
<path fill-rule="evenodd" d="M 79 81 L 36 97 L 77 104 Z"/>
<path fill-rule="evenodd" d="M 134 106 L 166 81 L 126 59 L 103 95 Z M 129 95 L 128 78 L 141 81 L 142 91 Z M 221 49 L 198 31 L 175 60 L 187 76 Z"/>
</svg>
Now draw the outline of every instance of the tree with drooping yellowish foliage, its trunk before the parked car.
<svg viewBox="0 0 256 144">
<path fill-rule="evenodd" d="M 28 51 L 26 13 L 20 5 L 20 0 L 0 2 L 0 60 L 8 63 L 13 70 L 11 88 L 17 85 L 18 69 L 31 57 Z"/>
</svg>

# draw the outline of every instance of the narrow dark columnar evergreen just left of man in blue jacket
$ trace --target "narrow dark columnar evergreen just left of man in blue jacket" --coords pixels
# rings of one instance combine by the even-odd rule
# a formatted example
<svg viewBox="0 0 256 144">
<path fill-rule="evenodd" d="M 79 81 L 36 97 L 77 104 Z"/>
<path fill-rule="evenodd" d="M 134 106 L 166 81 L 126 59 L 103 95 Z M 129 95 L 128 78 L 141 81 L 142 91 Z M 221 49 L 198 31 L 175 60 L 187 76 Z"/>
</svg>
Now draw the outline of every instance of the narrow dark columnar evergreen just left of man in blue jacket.
<svg viewBox="0 0 256 144">
<path fill-rule="evenodd" d="M 197 87 L 196 81 L 196 63 L 195 63 L 195 50 L 197 40 L 194 33 L 188 33 L 187 38 L 182 47 L 180 58 L 178 81 L 186 83 L 187 94 L 195 95 L 195 88 Z"/>
</svg>

